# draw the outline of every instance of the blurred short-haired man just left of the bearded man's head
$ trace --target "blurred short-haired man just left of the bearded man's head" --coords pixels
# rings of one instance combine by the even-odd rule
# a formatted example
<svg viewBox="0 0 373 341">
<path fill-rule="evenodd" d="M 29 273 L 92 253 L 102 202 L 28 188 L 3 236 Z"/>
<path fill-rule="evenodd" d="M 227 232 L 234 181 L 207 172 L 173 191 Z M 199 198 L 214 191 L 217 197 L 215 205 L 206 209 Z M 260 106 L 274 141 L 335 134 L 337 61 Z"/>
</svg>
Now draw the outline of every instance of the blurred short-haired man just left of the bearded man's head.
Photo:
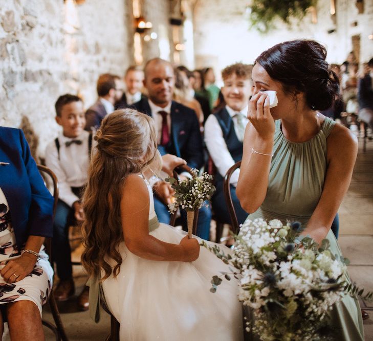
<svg viewBox="0 0 373 341">
<path fill-rule="evenodd" d="M 125 90 L 122 97 L 115 103 L 116 109 L 125 108 L 146 97 L 141 92 L 143 88 L 144 71 L 140 66 L 129 66 L 124 74 Z"/>
</svg>

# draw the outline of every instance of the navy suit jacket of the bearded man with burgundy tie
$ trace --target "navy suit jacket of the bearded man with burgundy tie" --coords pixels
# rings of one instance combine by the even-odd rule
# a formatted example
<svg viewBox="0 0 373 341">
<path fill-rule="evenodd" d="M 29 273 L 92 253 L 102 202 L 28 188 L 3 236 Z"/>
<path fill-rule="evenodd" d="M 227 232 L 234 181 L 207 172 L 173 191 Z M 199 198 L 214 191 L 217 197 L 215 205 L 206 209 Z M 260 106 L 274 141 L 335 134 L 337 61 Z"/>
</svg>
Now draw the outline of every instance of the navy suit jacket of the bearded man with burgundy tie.
<svg viewBox="0 0 373 341">
<path fill-rule="evenodd" d="M 152 116 L 146 98 L 131 107 Z M 203 144 L 200 124 L 194 110 L 172 101 L 170 114 L 171 143 L 168 147 L 158 146 L 158 150 L 161 155 L 169 153 L 182 157 L 189 167 L 200 169 L 203 165 Z"/>
</svg>

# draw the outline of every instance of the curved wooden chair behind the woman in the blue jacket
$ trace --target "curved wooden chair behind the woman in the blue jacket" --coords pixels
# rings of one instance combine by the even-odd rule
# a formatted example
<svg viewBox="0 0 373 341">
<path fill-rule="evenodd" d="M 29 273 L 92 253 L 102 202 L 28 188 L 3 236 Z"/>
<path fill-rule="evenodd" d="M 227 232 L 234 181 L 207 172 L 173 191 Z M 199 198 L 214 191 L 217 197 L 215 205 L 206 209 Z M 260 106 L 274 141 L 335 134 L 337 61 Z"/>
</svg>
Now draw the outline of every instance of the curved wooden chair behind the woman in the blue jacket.
<svg viewBox="0 0 373 341">
<path fill-rule="evenodd" d="M 57 202 L 58 202 L 58 181 L 56 175 L 46 166 L 42 165 L 37 165 L 37 168 L 41 174 L 41 176 L 46 179 L 46 176 L 48 176 L 48 179 L 51 181 L 53 184 L 53 198 L 54 198 L 54 203 L 53 203 L 53 216 L 56 213 L 56 208 L 57 208 Z M 46 247 L 46 252 L 49 255 L 49 262 L 51 263 L 51 266 L 53 268 L 53 259 L 52 259 L 52 238 L 46 238 L 45 241 L 45 247 Z M 51 293 L 49 295 L 48 303 L 52 312 L 53 320 L 56 326 L 53 324 L 49 323 L 48 321 L 42 320 L 42 324 L 52 330 L 54 335 L 56 336 L 57 341 L 68 341 L 68 337 L 65 333 L 65 330 L 63 328 L 61 316 L 58 311 L 57 303 L 53 295 L 53 288 L 51 289 Z"/>
</svg>

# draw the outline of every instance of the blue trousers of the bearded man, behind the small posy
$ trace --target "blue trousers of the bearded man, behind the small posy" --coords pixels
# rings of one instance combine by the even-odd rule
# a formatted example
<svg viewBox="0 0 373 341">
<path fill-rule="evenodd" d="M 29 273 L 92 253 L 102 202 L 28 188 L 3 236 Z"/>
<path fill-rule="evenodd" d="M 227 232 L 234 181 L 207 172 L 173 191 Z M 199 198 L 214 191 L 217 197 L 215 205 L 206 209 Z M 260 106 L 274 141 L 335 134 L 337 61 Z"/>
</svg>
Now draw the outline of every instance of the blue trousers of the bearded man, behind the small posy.
<svg viewBox="0 0 373 341">
<path fill-rule="evenodd" d="M 202 206 L 198 213 L 197 232 L 196 235 L 202 239 L 208 240 L 210 237 L 210 223 L 211 223 L 211 206 L 208 201 Z M 158 217 L 159 222 L 165 224 L 170 223 L 170 213 L 168 207 L 156 196 L 154 197 L 154 208 Z M 183 229 L 187 229 L 187 214 L 184 210 L 181 210 L 181 218 Z"/>
</svg>

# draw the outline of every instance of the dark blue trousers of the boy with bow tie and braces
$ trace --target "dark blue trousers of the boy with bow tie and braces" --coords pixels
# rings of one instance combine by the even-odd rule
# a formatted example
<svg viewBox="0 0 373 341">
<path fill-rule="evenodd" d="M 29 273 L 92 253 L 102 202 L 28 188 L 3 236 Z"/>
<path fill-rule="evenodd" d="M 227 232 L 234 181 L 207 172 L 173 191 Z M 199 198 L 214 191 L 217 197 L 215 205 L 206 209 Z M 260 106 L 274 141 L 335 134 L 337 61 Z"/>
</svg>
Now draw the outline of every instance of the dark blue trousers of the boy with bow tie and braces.
<svg viewBox="0 0 373 341">
<path fill-rule="evenodd" d="M 74 209 L 58 200 L 53 222 L 52 255 L 56 262 L 57 275 L 61 281 L 72 279 L 69 226 L 74 223 Z"/>
</svg>

